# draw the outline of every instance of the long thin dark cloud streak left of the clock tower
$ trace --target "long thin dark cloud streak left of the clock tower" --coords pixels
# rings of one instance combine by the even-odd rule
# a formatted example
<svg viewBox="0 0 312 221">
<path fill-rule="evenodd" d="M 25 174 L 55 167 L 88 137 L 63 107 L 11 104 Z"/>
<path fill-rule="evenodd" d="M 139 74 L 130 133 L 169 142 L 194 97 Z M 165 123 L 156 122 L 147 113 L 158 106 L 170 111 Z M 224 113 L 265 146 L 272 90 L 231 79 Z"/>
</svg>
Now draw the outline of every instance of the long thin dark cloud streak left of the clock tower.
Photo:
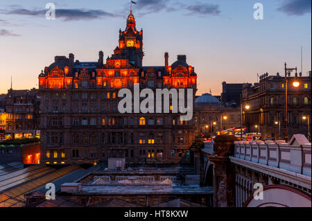
<svg viewBox="0 0 312 221">
<path fill-rule="evenodd" d="M 6 15 L 28 15 L 28 16 L 42 16 L 46 15 L 46 10 L 28 10 L 25 8 L 17 8 L 7 10 L 4 12 Z M 114 17 L 110 12 L 103 10 L 87 10 L 87 9 L 56 9 L 55 18 L 62 18 L 64 21 L 77 21 L 77 20 L 91 20 L 100 19 L 102 17 Z"/>
</svg>

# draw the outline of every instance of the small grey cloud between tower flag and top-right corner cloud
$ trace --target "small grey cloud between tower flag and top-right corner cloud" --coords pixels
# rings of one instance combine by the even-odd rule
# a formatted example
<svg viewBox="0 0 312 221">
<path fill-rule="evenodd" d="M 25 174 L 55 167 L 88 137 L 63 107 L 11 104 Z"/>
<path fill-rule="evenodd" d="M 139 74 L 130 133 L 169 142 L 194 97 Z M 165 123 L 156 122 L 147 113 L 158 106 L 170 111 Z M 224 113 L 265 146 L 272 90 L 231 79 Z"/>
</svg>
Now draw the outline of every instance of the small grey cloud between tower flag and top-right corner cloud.
<svg viewBox="0 0 312 221">
<path fill-rule="evenodd" d="M 218 5 L 209 3 L 197 3 L 192 6 L 184 6 L 186 10 L 189 10 L 189 15 L 219 15 L 220 8 Z"/>
</svg>

